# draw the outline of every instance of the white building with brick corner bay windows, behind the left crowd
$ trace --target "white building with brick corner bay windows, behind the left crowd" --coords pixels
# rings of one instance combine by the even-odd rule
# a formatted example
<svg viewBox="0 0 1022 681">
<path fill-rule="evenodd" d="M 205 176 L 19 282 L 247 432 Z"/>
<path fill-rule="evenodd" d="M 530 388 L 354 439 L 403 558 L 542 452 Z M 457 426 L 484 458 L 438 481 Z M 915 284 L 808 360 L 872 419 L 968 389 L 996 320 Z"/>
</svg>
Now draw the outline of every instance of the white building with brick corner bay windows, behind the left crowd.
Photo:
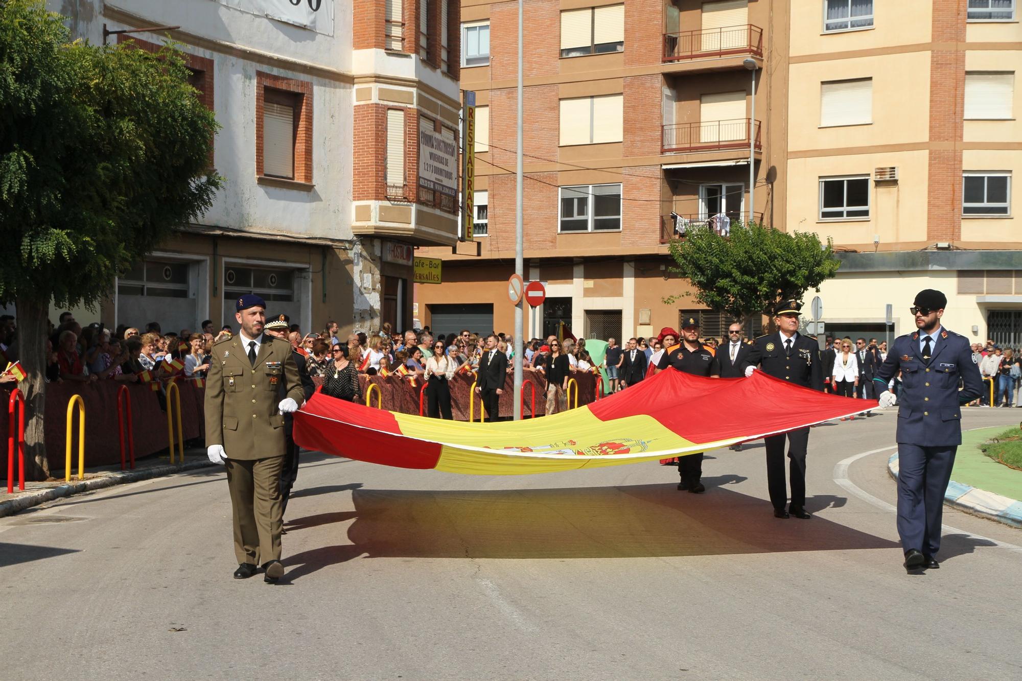
<svg viewBox="0 0 1022 681">
<path fill-rule="evenodd" d="M 92 43 L 176 41 L 222 126 L 224 189 L 118 280 L 99 311 L 108 326 L 236 326 L 233 301 L 250 292 L 303 330 L 411 323 L 415 246 L 457 241 L 454 182 L 418 163 L 421 144 L 457 129 L 457 0 L 48 6 Z"/>
</svg>

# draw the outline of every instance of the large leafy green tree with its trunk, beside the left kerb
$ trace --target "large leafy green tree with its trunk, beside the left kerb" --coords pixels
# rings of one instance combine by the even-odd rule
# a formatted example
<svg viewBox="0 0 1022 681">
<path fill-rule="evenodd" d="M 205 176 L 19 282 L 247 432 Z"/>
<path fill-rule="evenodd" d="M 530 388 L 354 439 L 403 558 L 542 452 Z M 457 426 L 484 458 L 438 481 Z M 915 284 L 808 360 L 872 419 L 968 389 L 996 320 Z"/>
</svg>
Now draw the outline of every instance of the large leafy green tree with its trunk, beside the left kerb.
<svg viewBox="0 0 1022 681">
<path fill-rule="evenodd" d="M 188 76 L 173 47 L 71 43 L 41 0 L 0 2 L 0 303 L 17 306 L 40 465 L 51 300 L 95 304 L 223 181 L 217 122 Z"/>
</svg>

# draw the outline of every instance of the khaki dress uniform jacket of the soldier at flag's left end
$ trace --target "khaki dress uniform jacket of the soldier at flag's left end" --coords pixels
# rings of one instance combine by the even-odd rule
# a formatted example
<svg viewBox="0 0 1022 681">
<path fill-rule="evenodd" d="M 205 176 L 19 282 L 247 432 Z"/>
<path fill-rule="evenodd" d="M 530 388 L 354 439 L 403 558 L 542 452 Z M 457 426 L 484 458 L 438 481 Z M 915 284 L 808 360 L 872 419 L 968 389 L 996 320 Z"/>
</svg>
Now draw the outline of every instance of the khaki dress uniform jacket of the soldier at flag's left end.
<svg viewBox="0 0 1022 681">
<path fill-rule="evenodd" d="M 228 458 L 254 460 L 284 455 L 280 384 L 304 401 L 291 344 L 263 334 L 256 366 L 235 335 L 214 344 L 205 382 L 205 444 L 223 445 Z"/>
</svg>

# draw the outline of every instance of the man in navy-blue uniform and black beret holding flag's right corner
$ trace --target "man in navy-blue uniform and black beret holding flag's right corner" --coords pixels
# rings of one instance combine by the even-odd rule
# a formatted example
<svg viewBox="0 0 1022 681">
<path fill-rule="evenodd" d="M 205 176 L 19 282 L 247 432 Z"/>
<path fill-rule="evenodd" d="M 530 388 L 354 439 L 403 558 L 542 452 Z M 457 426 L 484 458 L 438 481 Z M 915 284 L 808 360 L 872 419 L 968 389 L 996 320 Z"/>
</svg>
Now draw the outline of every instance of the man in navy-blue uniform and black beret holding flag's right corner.
<svg viewBox="0 0 1022 681">
<path fill-rule="evenodd" d="M 910 574 L 940 566 L 935 556 L 944 493 L 962 444 L 961 405 L 983 392 L 969 340 L 941 326 L 946 305 L 939 290 L 916 296 L 912 314 L 918 330 L 894 339 L 874 378 L 880 406 L 899 404 L 897 534 Z M 901 390 L 895 398 L 887 381 L 898 371 Z"/>
</svg>

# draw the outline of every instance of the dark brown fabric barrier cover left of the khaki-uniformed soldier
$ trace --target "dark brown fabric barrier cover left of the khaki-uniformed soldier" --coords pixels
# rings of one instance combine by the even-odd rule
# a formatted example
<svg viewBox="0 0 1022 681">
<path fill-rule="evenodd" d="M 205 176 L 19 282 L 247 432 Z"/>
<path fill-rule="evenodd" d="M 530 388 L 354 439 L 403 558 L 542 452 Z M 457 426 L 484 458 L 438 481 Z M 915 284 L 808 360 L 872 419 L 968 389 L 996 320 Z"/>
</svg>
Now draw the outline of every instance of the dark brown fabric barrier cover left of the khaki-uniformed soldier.
<svg viewBox="0 0 1022 681">
<path fill-rule="evenodd" d="M 157 394 L 148 385 L 119 383 L 101 380 L 93 383 L 61 381 L 46 385 L 46 455 L 50 470 L 63 470 L 64 438 L 67 425 L 67 402 L 73 395 L 81 395 L 85 403 L 85 465 L 97 466 L 121 462 L 121 445 L 118 439 L 118 392 L 128 385 L 131 396 L 132 433 L 135 437 L 135 458 L 142 458 L 167 449 L 167 413 L 159 408 Z M 201 438 L 205 434 L 202 400 L 204 389 L 193 380 L 178 380 L 181 394 L 181 432 L 185 441 Z M 0 392 L 3 408 L 0 409 L 0 434 L 7 434 L 7 401 L 10 391 Z M 78 408 L 73 430 L 72 468 L 78 472 Z M 177 419 L 175 419 L 176 421 Z M 177 423 L 175 422 L 175 438 Z M 125 443 L 127 447 L 127 442 Z M 6 450 L 6 447 L 4 447 Z M 5 452 L 6 453 L 6 452 Z M 127 460 L 127 453 L 125 455 Z M 3 460 L 6 464 L 6 459 Z M 6 465 L 0 466 L 0 475 L 7 475 Z M 15 466 L 16 468 L 16 466 Z"/>
</svg>

